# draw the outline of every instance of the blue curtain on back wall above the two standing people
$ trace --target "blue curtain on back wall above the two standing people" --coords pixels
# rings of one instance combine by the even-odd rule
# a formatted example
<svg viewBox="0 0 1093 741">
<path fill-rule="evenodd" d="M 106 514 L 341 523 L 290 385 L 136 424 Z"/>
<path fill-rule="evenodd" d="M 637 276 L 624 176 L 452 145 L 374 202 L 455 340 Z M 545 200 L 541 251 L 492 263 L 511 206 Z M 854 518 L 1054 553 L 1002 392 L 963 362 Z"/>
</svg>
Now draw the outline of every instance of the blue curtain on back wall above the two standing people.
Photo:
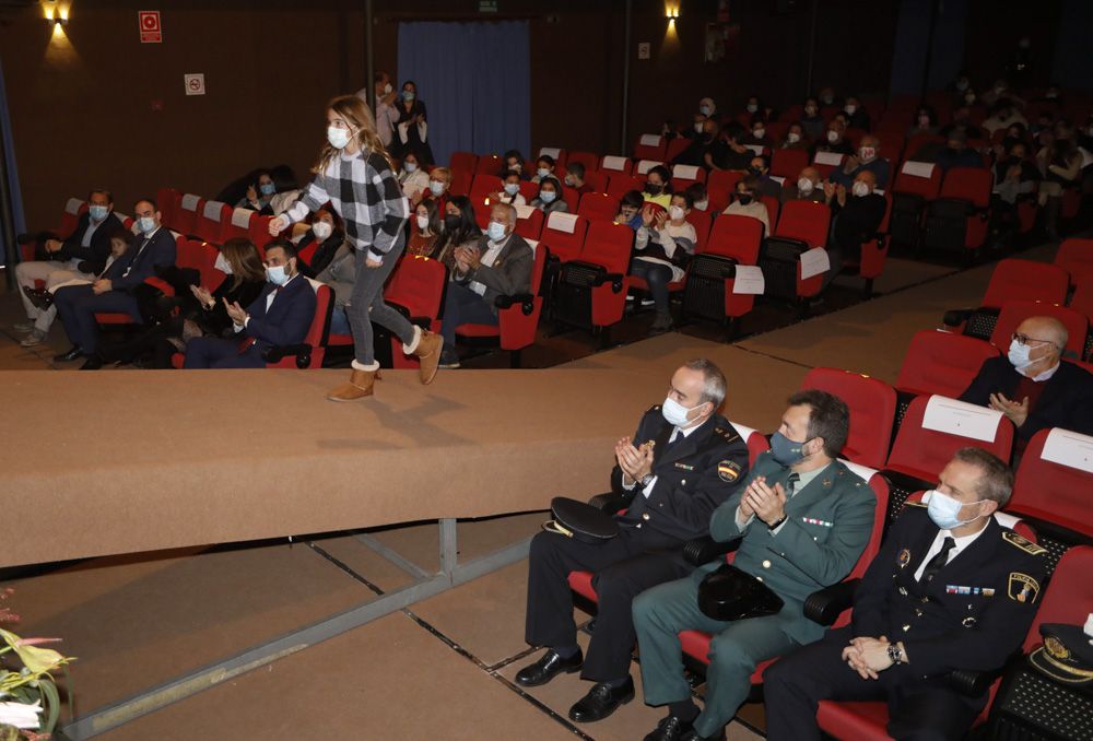
<svg viewBox="0 0 1093 741">
<path fill-rule="evenodd" d="M 529 48 L 526 21 L 399 24 L 396 89 L 418 84 L 437 164 L 457 151 L 532 156 Z"/>
</svg>

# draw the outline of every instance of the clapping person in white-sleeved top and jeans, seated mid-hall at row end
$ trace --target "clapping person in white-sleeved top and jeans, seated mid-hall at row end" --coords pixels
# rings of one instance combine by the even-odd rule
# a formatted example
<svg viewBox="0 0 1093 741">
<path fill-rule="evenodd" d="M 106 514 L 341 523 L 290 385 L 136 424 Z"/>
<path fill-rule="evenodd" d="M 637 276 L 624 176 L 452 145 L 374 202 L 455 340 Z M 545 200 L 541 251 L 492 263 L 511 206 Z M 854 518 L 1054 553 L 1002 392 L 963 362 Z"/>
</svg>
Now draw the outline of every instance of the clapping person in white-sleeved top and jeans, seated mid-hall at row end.
<svg viewBox="0 0 1093 741">
<path fill-rule="evenodd" d="M 668 284 L 683 280 L 686 263 L 698 242 L 694 226 L 686 221 L 692 205 L 686 193 L 675 193 L 667 212 L 654 213 L 648 205 L 642 211 L 642 226 L 634 240 L 630 273 L 649 284 L 657 311 L 650 328 L 654 332 L 671 329 Z"/>
</svg>

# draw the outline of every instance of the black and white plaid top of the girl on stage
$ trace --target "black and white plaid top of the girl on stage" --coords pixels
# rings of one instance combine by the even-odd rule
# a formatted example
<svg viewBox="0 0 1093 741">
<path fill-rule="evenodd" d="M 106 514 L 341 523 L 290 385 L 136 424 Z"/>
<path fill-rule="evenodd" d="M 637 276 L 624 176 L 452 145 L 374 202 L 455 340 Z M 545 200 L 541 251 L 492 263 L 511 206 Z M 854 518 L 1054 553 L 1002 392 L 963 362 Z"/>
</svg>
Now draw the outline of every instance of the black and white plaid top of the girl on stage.
<svg viewBox="0 0 1093 741">
<path fill-rule="evenodd" d="M 330 201 L 345 221 L 345 236 L 373 260 L 383 261 L 404 239 L 410 217 L 398 178 L 387 160 L 375 152 L 339 154 L 304 189 L 304 195 L 284 215 L 295 224 Z"/>
</svg>

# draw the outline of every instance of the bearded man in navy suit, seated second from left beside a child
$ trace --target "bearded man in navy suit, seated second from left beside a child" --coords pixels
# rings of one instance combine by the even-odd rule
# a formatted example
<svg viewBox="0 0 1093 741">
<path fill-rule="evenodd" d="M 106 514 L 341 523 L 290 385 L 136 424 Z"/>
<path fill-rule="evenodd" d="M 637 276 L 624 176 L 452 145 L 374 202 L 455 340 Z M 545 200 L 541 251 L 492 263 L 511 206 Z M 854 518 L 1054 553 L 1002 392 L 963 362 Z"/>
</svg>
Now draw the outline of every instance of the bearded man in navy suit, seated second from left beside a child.
<svg viewBox="0 0 1093 741">
<path fill-rule="evenodd" d="M 133 291 L 175 263 L 175 237 L 161 224 L 160 210 L 150 198 L 137 201 L 133 207 L 139 233 L 126 254 L 118 259 L 116 278 L 99 278 L 90 285 L 64 286 L 54 294 L 57 315 L 64 325 L 64 332 L 72 349 L 57 355 L 54 361 L 67 363 L 86 357 L 81 370 L 103 367 L 98 356 L 98 311 L 128 314 L 140 321 L 140 307 Z M 113 268 L 114 266 L 111 266 Z"/>
</svg>

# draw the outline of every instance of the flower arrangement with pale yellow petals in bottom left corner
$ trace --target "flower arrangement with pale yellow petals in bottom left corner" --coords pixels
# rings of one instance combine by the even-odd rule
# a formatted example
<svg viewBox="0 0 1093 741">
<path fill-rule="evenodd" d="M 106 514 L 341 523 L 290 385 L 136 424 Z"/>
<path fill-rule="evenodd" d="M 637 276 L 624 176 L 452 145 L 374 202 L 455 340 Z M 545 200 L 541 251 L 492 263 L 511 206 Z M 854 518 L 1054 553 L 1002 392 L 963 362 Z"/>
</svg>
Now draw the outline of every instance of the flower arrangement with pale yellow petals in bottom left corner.
<svg viewBox="0 0 1093 741">
<path fill-rule="evenodd" d="M 19 622 L 19 615 L 2 603 L 12 592 L 11 588 L 0 590 L 0 624 Z M 50 672 L 63 671 L 73 659 L 39 646 L 59 640 L 21 638 L 0 628 L 0 741 L 50 738 L 61 709 L 60 694 Z"/>
</svg>

